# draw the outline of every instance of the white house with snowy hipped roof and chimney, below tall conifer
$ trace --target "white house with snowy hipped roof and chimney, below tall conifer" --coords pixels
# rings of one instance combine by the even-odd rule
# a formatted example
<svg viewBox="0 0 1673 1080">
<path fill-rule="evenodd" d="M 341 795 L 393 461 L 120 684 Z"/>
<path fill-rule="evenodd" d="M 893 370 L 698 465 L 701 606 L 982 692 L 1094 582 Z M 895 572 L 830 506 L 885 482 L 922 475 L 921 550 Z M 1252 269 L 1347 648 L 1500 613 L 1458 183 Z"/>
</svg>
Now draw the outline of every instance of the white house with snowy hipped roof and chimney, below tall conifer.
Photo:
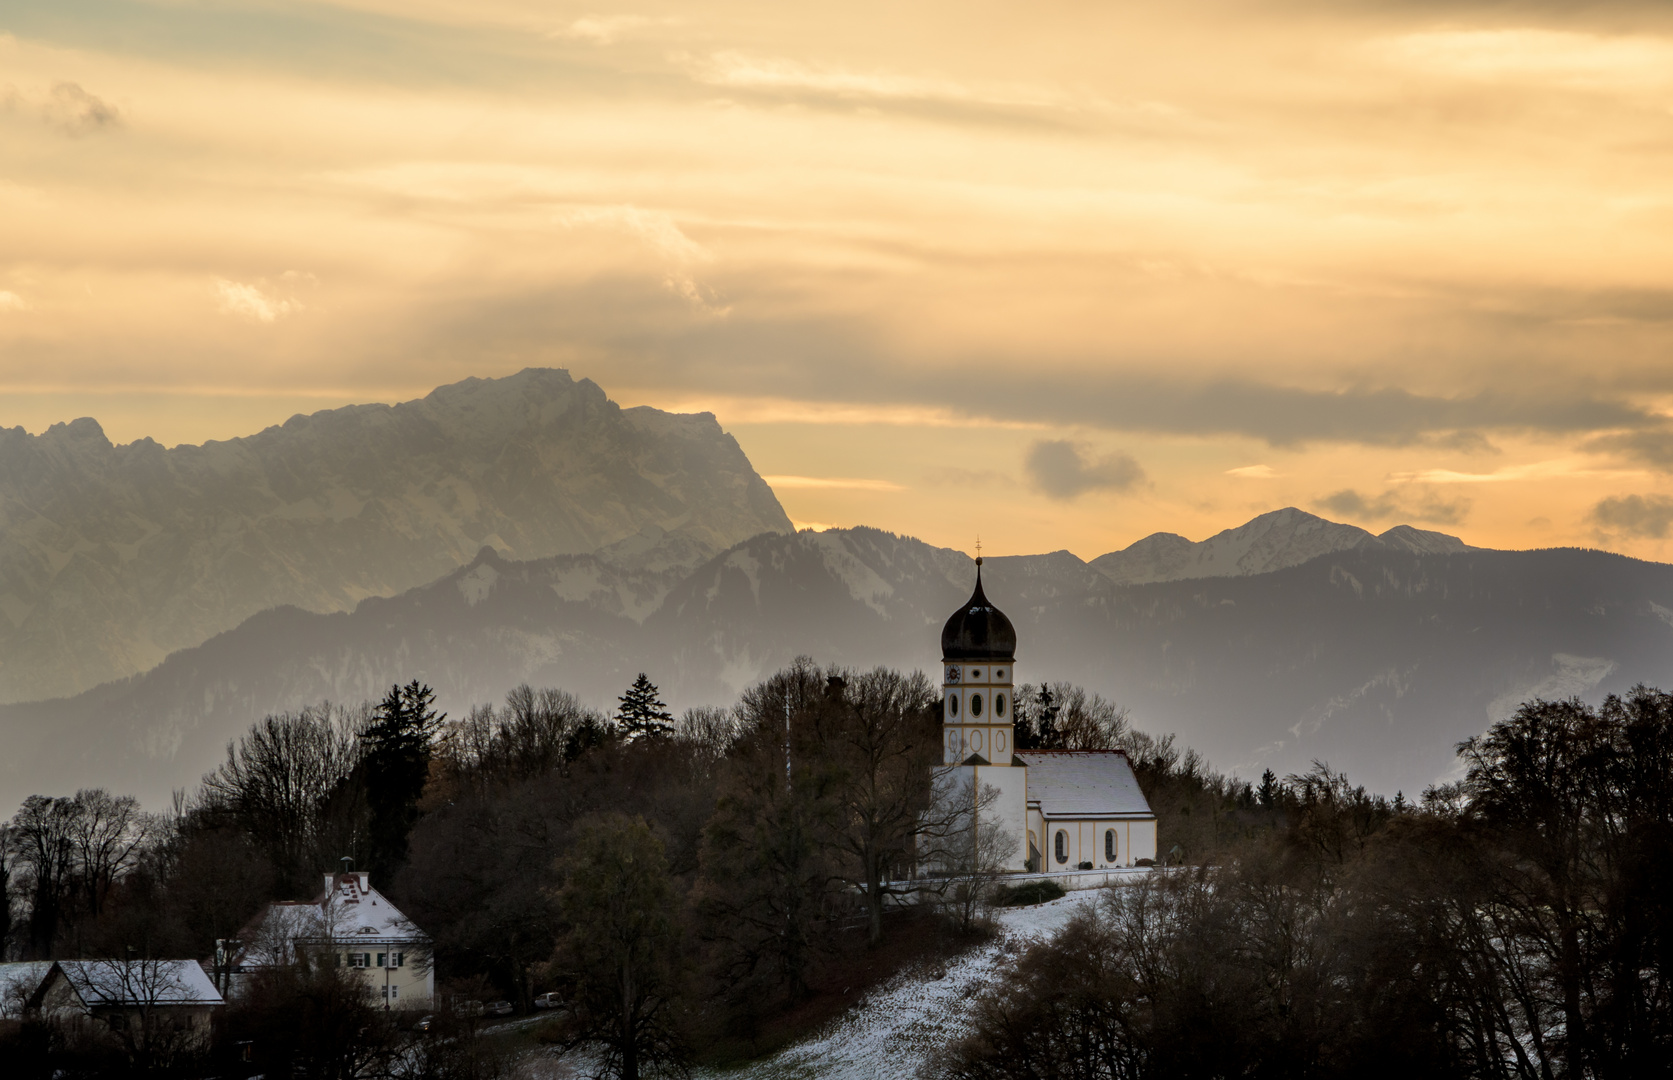
<svg viewBox="0 0 1673 1080">
<path fill-rule="evenodd" d="M 325 889 L 313 899 L 268 904 L 239 938 L 234 988 L 263 968 L 306 955 L 356 971 L 385 1008 L 423 1008 L 435 998 L 430 935 L 371 888 L 363 871 L 325 874 Z"/>
</svg>

